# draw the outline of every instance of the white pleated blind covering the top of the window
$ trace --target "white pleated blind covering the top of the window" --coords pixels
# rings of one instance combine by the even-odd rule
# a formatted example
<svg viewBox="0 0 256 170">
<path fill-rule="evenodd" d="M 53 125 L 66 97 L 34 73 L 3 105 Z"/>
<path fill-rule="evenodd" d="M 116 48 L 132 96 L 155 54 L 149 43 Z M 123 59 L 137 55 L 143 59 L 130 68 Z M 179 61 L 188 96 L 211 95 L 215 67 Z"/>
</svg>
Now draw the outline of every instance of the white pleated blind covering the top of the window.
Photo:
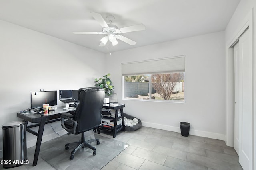
<svg viewBox="0 0 256 170">
<path fill-rule="evenodd" d="M 185 56 L 122 63 L 122 76 L 185 72 Z"/>
</svg>

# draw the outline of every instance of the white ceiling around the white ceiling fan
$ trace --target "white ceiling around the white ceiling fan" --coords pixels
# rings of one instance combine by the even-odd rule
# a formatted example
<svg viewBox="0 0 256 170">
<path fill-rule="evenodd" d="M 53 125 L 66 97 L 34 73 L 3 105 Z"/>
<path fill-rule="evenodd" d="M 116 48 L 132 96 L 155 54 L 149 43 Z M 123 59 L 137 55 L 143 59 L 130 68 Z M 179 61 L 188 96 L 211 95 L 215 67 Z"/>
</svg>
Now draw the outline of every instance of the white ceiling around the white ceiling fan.
<svg viewBox="0 0 256 170">
<path fill-rule="evenodd" d="M 109 53 L 99 47 L 104 35 L 74 35 L 74 31 L 102 31 L 90 12 L 106 16 L 119 28 L 144 24 L 145 31 L 123 33 L 137 42 L 118 40 L 120 51 L 206 33 L 224 31 L 240 0 L 0 0 L 0 20 L 59 39 Z"/>
</svg>

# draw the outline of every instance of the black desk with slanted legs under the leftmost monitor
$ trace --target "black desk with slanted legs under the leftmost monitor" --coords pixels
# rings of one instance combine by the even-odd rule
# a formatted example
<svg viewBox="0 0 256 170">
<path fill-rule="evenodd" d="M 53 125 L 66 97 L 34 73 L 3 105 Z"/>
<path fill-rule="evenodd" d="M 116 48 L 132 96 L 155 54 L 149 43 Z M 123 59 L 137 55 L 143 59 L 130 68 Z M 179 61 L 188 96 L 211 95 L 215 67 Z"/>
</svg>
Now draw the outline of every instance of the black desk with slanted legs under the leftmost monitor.
<svg viewBox="0 0 256 170">
<path fill-rule="evenodd" d="M 60 113 L 63 113 L 63 112 L 72 113 L 72 112 L 74 112 L 74 111 L 63 110 L 63 108 L 64 107 L 58 107 L 57 110 L 50 111 L 48 115 L 44 115 L 44 113 L 42 113 L 42 114 L 32 113 L 31 115 L 24 115 L 22 113 L 17 113 L 17 117 L 19 117 L 21 119 L 24 119 L 26 121 L 27 131 L 29 133 L 32 133 L 33 135 L 37 136 L 36 150 L 35 150 L 35 154 L 34 154 L 33 166 L 36 166 L 36 164 L 37 164 L 39 151 L 40 151 L 40 147 L 41 147 L 41 142 L 42 142 L 42 137 L 43 137 L 43 133 L 44 133 L 44 125 L 47 124 L 47 123 L 60 121 Z M 28 122 L 38 123 L 38 124 L 28 126 Z M 39 126 L 38 132 L 33 131 L 32 129 L 30 129 L 30 128 L 36 127 L 36 126 Z"/>
</svg>

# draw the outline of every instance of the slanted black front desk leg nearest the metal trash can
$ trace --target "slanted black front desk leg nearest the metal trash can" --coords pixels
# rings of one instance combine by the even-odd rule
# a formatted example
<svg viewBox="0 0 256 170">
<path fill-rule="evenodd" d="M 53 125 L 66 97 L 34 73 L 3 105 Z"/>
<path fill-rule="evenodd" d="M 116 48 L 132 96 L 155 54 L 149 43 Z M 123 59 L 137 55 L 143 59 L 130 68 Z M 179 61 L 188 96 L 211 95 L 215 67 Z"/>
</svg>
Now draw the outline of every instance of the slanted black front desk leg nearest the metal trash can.
<svg viewBox="0 0 256 170">
<path fill-rule="evenodd" d="M 46 118 L 45 119 L 42 118 L 42 121 L 39 125 L 38 136 L 37 136 L 37 140 L 36 140 L 36 150 L 35 150 L 34 160 L 33 160 L 33 166 L 36 166 L 36 164 L 37 164 L 39 151 L 40 151 L 40 147 L 41 147 L 41 142 L 42 142 L 42 137 L 43 137 L 43 133 L 44 133 L 45 121 L 46 121 Z"/>
</svg>

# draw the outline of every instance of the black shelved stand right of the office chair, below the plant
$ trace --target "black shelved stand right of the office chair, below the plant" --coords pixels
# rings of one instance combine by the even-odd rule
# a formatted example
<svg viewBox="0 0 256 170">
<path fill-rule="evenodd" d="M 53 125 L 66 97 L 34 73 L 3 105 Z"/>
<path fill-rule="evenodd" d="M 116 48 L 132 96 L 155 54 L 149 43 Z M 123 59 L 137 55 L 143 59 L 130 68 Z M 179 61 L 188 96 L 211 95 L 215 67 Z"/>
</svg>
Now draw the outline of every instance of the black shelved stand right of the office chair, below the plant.
<svg viewBox="0 0 256 170">
<path fill-rule="evenodd" d="M 101 128 L 102 130 L 106 130 L 106 131 L 111 131 L 113 132 L 113 137 L 115 138 L 116 137 L 116 133 L 120 130 L 123 130 L 125 131 L 125 126 L 124 126 L 124 111 L 123 111 L 123 108 L 125 107 L 125 104 L 118 104 L 117 106 L 110 106 L 109 104 L 103 104 L 103 107 L 104 109 L 112 109 L 112 110 L 116 110 L 116 113 L 115 113 L 115 122 L 114 122 L 114 130 L 108 130 L 108 129 L 103 129 Z M 120 112 L 121 112 L 121 117 L 118 117 L 118 110 L 120 109 Z M 117 129 L 117 120 L 119 118 L 122 118 L 122 127 L 118 128 Z"/>
</svg>

